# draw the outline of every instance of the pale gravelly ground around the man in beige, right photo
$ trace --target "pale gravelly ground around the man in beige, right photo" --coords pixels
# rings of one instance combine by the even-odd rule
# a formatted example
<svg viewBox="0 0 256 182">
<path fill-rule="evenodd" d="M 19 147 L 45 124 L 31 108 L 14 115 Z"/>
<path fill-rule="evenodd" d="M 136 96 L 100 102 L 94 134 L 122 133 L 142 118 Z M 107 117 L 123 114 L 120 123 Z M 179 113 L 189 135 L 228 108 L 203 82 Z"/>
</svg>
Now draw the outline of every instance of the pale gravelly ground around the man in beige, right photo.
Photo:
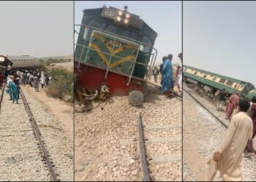
<svg viewBox="0 0 256 182">
<path fill-rule="evenodd" d="M 206 161 L 221 143 L 227 129 L 195 103 L 186 92 L 183 96 L 183 180 L 202 181 L 205 178 Z M 210 105 L 205 106 L 210 108 Z M 222 118 L 225 113 L 219 115 L 217 116 Z M 255 181 L 255 162 L 255 156 L 243 157 L 241 164 L 243 181 Z M 214 181 L 222 181 L 219 173 Z"/>
</svg>

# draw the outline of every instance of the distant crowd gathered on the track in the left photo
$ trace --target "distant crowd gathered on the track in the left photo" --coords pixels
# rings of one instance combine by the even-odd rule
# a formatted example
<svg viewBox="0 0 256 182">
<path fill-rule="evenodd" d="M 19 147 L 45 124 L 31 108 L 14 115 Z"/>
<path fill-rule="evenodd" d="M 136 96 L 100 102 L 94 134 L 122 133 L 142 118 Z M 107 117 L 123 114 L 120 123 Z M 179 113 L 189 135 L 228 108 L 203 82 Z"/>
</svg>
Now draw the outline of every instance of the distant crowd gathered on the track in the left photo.
<svg viewBox="0 0 256 182">
<path fill-rule="evenodd" d="M 12 103 L 16 104 L 18 104 L 20 84 L 28 84 L 29 87 L 34 87 L 35 92 L 39 92 L 39 84 L 41 84 L 41 87 L 44 88 L 52 81 L 51 76 L 45 74 L 44 71 L 20 70 L 11 72 L 11 66 L 7 67 L 7 71 L 5 72 L 4 76 L 7 78 L 6 92 L 10 95 L 10 100 L 12 100 Z"/>
</svg>

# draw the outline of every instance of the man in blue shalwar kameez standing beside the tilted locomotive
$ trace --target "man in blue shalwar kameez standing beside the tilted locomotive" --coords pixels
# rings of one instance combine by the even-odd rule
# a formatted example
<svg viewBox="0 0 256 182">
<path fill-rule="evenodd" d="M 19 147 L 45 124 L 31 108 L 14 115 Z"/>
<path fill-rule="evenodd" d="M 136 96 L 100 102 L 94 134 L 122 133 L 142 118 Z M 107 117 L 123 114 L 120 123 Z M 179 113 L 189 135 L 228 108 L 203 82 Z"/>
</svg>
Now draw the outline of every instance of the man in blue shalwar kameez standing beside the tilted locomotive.
<svg viewBox="0 0 256 182">
<path fill-rule="evenodd" d="M 172 59 L 173 55 L 168 55 L 167 60 L 164 61 L 164 65 L 162 66 L 162 92 L 164 92 L 166 96 L 170 96 L 170 89 L 173 84 Z"/>
</svg>

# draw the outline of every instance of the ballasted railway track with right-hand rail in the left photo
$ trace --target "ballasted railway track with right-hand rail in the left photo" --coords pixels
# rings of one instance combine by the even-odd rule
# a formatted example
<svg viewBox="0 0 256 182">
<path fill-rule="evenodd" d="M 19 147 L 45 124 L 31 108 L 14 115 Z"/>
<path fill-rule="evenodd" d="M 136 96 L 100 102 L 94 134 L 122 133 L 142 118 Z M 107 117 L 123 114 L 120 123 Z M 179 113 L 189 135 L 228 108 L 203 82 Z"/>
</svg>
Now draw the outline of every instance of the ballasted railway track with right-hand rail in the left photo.
<svg viewBox="0 0 256 182">
<path fill-rule="evenodd" d="M 21 89 L 20 96 L 25 110 L 21 104 L 13 103 L 12 111 L 8 108 L 12 101 L 1 95 L 4 110 L 0 119 L 0 181 L 58 181 L 45 141 Z"/>
</svg>

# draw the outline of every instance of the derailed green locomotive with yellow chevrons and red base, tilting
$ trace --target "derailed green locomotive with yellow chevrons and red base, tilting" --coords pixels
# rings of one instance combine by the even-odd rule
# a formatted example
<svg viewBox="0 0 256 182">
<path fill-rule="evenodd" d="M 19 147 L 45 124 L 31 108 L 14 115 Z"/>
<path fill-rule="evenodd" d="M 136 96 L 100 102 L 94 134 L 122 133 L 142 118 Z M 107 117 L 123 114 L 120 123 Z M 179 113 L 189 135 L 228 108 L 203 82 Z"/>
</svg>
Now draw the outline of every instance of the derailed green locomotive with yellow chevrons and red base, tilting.
<svg viewBox="0 0 256 182">
<path fill-rule="evenodd" d="M 157 33 L 138 15 L 114 7 L 85 9 L 75 44 L 76 90 L 109 91 L 142 103 L 154 66 Z M 83 94 L 86 95 L 86 94 Z M 86 95 L 90 98 L 90 95 Z M 91 97 L 94 97 L 91 95 Z"/>
</svg>

